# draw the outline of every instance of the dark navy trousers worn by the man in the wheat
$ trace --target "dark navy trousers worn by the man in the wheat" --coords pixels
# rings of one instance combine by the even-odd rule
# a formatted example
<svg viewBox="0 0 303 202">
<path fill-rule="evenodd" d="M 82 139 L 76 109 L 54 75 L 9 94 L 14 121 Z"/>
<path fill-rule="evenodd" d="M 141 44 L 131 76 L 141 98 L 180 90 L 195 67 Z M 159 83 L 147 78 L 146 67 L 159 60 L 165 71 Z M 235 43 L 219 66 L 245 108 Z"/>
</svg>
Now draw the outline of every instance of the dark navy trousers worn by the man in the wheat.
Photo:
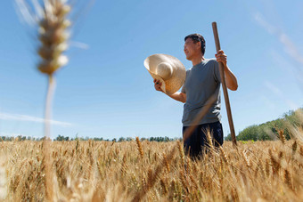
<svg viewBox="0 0 303 202">
<path fill-rule="evenodd" d="M 183 134 L 188 127 L 190 126 L 183 126 Z M 207 130 L 210 132 L 215 147 L 219 147 L 223 144 L 223 128 L 219 121 L 210 124 L 197 125 L 192 132 L 192 135 L 184 141 L 185 154 L 189 154 L 191 158 L 201 158 L 203 152 L 207 152 L 209 145 L 206 136 Z"/>
</svg>

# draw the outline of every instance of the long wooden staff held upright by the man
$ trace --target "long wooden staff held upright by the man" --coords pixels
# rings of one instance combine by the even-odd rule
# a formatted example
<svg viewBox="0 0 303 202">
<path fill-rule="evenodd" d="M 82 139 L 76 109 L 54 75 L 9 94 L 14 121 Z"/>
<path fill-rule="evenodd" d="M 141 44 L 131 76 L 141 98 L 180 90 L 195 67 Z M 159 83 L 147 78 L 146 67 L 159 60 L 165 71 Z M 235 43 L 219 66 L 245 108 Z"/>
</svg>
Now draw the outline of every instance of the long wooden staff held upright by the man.
<svg viewBox="0 0 303 202">
<path fill-rule="evenodd" d="M 216 21 L 214 21 L 212 23 L 212 30 L 214 31 L 215 43 L 216 43 L 216 48 L 217 48 L 217 52 L 218 52 L 219 50 L 221 50 L 221 48 L 220 48 L 219 36 L 217 34 L 217 22 Z M 219 71 L 220 71 L 222 88 L 223 88 L 223 93 L 224 93 L 224 98 L 225 98 L 225 105 L 226 105 L 226 110 L 227 110 L 229 128 L 231 130 L 231 135 L 232 135 L 232 140 L 233 140 L 233 146 L 237 146 L 237 141 L 235 139 L 235 133 L 234 133 L 234 127 L 233 127 L 232 110 L 231 110 L 231 105 L 229 103 L 227 88 L 226 88 L 226 84 L 225 84 L 225 74 L 224 74 L 224 67 L 223 67 L 222 62 L 219 62 Z"/>
</svg>

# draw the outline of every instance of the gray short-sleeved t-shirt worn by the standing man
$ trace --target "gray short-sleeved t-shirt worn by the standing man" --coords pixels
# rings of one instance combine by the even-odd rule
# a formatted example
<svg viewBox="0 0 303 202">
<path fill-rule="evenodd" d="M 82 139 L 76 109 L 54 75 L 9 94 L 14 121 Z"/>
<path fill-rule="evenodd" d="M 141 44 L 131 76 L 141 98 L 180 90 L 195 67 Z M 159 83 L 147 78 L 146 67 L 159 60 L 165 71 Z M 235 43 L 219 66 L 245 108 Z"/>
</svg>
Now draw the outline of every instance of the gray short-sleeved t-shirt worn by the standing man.
<svg viewBox="0 0 303 202">
<path fill-rule="evenodd" d="M 209 97 L 220 88 L 221 77 L 216 59 L 206 59 L 200 64 L 186 71 L 186 79 L 181 92 L 186 93 L 186 102 L 182 123 L 184 126 L 192 125 L 192 121 L 199 113 Z M 209 112 L 199 123 L 207 124 L 221 121 L 221 91 L 217 91 L 217 101 L 209 109 Z"/>
</svg>

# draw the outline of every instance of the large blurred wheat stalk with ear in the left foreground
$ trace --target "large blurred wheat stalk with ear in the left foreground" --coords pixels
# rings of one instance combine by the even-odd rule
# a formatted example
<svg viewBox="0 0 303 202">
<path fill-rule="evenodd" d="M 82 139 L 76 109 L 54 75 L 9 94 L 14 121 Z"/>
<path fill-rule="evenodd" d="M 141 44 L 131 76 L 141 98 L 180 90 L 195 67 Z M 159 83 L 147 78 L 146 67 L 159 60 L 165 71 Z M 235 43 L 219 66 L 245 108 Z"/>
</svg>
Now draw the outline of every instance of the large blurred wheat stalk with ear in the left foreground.
<svg viewBox="0 0 303 202">
<path fill-rule="evenodd" d="M 48 200 L 55 200 L 53 188 L 53 167 L 50 157 L 50 120 L 52 114 L 52 101 L 55 89 L 54 73 L 68 63 L 68 57 L 63 54 L 68 48 L 67 41 L 70 27 L 70 20 L 67 14 L 70 12 L 70 1 L 67 0 L 44 0 L 29 1 L 16 0 L 19 5 L 20 13 L 29 25 L 37 28 L 37 38 L 40 42 L 37 53 L 40 62 L 37 69 L 48 77 L 48 88 L 45 100 L 45 141 L 43 144 L 45 166 L 45 187 Z"/>
</svg>

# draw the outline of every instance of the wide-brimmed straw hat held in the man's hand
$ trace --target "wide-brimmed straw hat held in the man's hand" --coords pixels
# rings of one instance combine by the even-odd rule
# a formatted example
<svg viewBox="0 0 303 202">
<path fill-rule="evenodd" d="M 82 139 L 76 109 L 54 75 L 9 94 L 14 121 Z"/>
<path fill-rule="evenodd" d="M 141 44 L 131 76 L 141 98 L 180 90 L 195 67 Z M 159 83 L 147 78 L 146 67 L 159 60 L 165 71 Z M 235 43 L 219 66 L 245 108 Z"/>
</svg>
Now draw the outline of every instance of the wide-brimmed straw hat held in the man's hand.
<svg viewBox="0 0 303 202">
<path fill-rule="evenodd" d="M 164 93 L 173 94 L 184 85 L 186 70 L 181 61 L 168 54 L 153 54 L 145 59 L 145 68 L 162 83 Z"/>
</svg>

